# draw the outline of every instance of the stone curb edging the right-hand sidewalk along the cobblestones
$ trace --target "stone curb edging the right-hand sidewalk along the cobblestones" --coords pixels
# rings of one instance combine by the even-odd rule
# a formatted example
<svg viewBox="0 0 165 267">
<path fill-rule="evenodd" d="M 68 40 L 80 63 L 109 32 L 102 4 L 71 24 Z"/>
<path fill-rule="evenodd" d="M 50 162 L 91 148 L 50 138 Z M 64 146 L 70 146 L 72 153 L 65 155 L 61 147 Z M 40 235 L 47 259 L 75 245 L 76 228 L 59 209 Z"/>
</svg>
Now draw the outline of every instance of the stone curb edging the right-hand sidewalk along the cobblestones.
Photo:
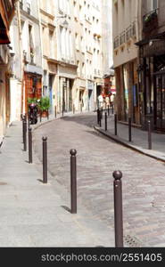
<svg viewBox="0 0 165 267">
<path fill-rule="evenodd" d="M 109 139 L 113 140 L 114 142 L 118 142 L 118 143 L 120 143 L 121 145 L 127 147 L 127 148 L 130 149 L 130 150 L 135 150 L 136 152 L 141 153 L 141 154 L 143 154 L 144 156 L 147 156 L 147 157 L 150 157 L 150 158 L 154 158 L 154 159 L 156 159 L 156 160 L 159 160 L 159 161 L 165 163 L 165 159 L 163 159 L 163 158 L 159 158 L 159 157 L 156 157 L 156 156 L 153 156 L 153 155 L 151 155 L 151 154 L 149 154 L 149 153 L 144 152 L 143 150 L 137 149 L 136 147 L 134 147 L 134 146 L 132 146 L 132 145 L 129 145 L 129 144 L 126 143 L 126 142 L 121 141 L 119 138 L 116 138 L 116 137 L 113 136 L 112 134 L 106 134 L 102 129 L 100 129 L 100 128 L 97 127 L 97 126 L 94 126 L 94 129 L 95 129 L 95 131 L 99 132 L 100 134 L 105 135 L 105 136 L 108 137 Z"/>
</svg>

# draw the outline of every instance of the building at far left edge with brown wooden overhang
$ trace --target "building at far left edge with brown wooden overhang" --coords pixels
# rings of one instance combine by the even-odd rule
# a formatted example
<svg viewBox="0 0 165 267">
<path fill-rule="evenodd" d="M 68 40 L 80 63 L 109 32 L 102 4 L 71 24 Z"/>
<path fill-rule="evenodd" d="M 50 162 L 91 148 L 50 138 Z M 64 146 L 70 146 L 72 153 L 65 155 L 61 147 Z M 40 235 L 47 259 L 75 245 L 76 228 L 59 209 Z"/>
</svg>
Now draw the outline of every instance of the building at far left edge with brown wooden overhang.
<svg viewBox="0 0 165 267">
<path fill-rule="evenodd" d="M 12 68 L 10 28 L 15 12 L 15 2 L 0 1 L 0 143 L 11 117 L 10 77 Z"/>
</svg>

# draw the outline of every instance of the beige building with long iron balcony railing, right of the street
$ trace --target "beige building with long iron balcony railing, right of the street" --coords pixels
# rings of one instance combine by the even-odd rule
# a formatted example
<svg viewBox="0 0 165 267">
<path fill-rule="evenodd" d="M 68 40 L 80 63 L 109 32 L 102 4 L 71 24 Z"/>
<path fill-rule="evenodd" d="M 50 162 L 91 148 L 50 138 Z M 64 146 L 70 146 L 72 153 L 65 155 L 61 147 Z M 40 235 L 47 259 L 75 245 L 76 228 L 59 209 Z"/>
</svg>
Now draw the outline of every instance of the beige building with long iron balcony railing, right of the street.
<svg viewBox="0 0 165 267">
<path fill-rule="evenodd" d="M 113 61 L 116 77 L 116 101 L 118 119 L 140 125 L 137 77 L 139 40 L 139 2 L 137 0 L 113 0 Z"/>
</svg>

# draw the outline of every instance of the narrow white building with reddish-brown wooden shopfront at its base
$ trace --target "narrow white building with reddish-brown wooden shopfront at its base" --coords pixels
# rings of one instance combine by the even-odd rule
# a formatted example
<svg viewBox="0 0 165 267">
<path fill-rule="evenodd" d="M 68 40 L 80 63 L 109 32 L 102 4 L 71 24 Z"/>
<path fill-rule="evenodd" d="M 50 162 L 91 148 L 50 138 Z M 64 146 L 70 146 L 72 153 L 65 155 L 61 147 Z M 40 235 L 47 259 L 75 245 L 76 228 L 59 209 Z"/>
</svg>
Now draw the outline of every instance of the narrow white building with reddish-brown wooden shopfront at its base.
<svg viewBox="0 0 165 267">
<path fill-rule="evenodd" d="M 39 2 L 20 0 L 18 23 L 21 45 L 21 112 L 27 112 L 29 98 L 42 96 L 42 46 Z"/>
</svg>

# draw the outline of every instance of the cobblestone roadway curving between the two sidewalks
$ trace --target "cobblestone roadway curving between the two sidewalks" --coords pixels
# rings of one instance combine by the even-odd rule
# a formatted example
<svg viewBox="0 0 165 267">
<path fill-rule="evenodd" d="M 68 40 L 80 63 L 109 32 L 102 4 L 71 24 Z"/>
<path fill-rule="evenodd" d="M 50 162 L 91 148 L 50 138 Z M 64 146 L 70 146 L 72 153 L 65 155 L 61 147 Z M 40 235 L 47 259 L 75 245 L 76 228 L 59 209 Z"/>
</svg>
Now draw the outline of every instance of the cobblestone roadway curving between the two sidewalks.
<svg viewBox="0 0 165 267">
<path fill-rule="evenodd" d="M 70 191 L 70 149 L 78 150 L 78 203 L 95 220 L 114 226 L 112 172 L 123 173 L 123 221 L 128 247 L 165 247 L 164 163 L 129 150 L 96 133 L 96 114 L 63 117 L 34 131 L 42 160 L 41 137 L 48 137 L 48 168 Z"/>
</svg>

